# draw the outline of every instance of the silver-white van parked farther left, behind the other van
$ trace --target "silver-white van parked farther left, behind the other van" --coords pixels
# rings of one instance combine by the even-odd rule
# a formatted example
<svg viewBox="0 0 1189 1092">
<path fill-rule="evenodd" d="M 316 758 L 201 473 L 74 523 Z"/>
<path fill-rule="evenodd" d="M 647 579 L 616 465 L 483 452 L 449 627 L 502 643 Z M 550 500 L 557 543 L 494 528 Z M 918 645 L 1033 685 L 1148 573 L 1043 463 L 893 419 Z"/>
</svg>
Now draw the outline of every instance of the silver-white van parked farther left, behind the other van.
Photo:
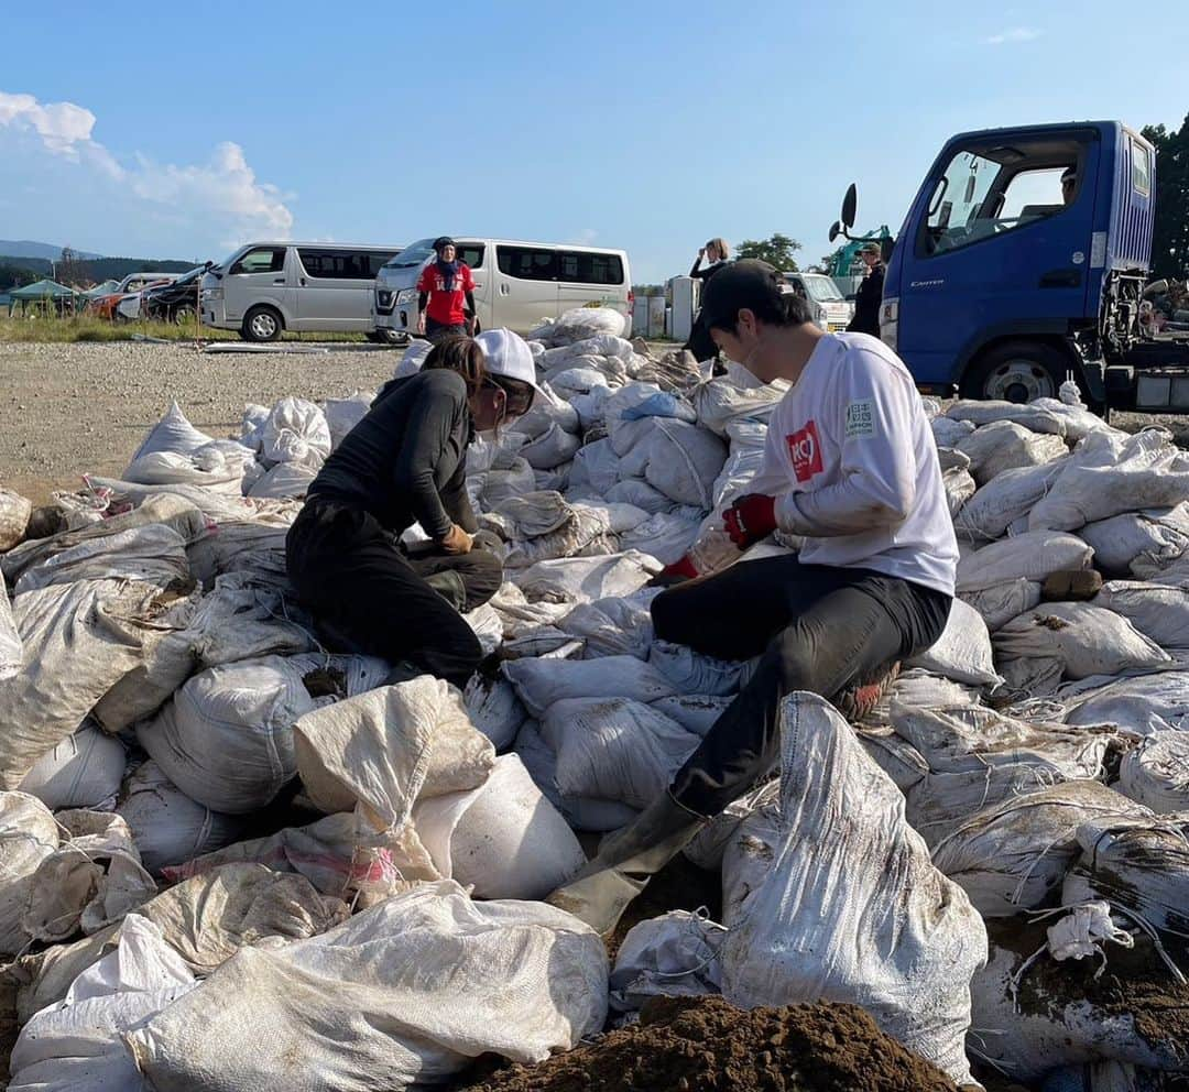
<svg viewBox="0 0 1189 1092">
<path fill-rule="evenodd" d="M 276 341 L 282 330 L 372 333 L 376 274 L 400 246 L 250 242 L 202 280 L 202 321 Z"/>
</svg>

